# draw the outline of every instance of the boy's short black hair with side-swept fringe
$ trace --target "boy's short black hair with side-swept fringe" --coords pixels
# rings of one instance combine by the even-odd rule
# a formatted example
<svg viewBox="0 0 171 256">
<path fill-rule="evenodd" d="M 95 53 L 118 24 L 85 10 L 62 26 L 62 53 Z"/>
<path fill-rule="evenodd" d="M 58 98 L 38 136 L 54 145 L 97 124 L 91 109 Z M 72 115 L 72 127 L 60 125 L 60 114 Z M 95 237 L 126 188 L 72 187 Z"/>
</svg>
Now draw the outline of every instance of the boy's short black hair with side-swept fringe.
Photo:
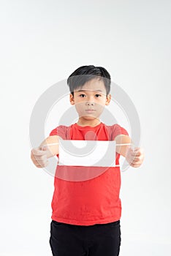
<svg viewBox="0 0 171 256">
<path fill-rule="evenodd" d="M 94 65 L 78 67 L 71 75 L 69 75 L 67 84 L 71 94 L 74 95 L 74 90 L 78 88 L 81 89 L 86 82 L 94 78 L 103 80 L 108 95 L 110 93 L 111 83 L 110 73 L 107 72 L 104 67 L 95 67 Z"/>
</svg>

